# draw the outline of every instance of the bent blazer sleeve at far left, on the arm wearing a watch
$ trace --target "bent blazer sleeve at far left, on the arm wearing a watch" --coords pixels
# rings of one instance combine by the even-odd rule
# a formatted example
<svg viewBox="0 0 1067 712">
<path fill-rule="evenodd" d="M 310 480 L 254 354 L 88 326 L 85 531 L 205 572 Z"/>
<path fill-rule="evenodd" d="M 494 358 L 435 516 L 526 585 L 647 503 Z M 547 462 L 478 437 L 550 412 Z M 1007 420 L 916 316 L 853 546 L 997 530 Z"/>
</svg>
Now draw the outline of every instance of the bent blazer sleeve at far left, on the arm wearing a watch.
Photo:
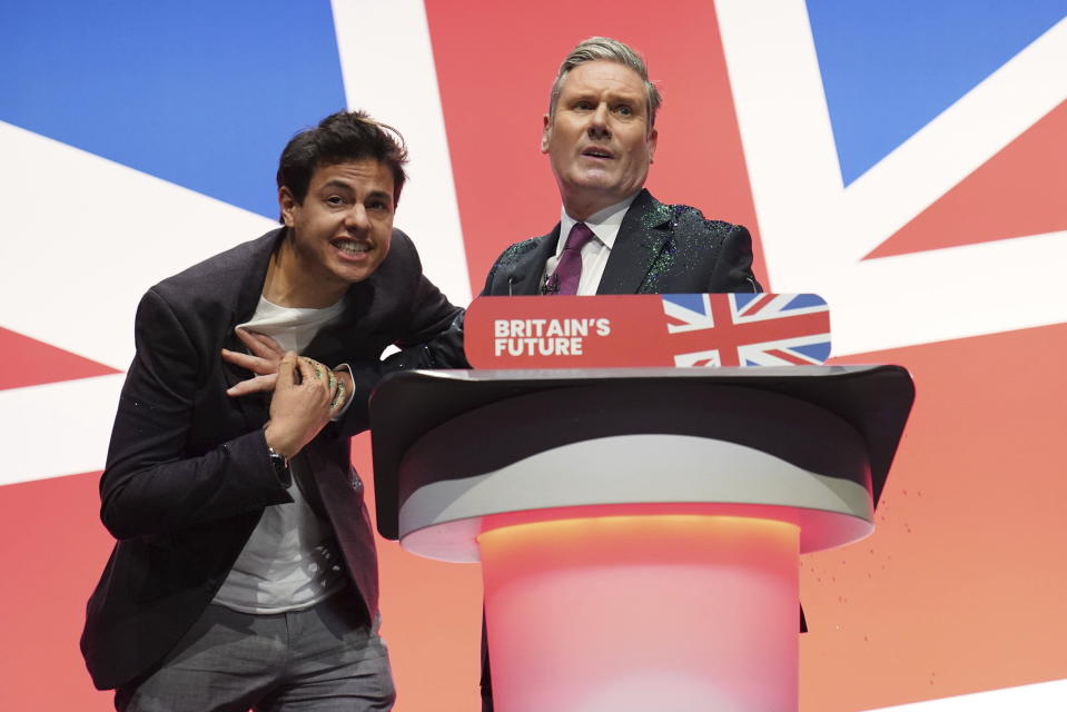
<svg viewBox="0 0 1067 712">
<path fill-rule="evenodd" d="M 187 452 L 200 359 L 155 290 L 138 306 L 135 340 L 100 479 L 108 531 L 116 538 L 156 535 L 292 502 L 259 429 L 206 453 Z"/>
</svg>

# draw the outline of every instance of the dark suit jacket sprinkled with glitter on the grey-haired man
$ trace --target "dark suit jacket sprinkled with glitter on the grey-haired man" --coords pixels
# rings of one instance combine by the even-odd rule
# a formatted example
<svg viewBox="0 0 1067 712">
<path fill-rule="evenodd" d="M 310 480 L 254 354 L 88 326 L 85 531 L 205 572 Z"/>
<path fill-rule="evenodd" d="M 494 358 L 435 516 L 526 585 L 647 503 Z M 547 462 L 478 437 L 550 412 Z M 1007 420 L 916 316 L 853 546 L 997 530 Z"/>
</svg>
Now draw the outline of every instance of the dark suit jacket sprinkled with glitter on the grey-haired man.
<svg viewBox="0 0 1067 712">
<path fill-rule="evenodd" d="M 541 294 L 555 254 L 559 224 L 547 235 L 508 247 L 481 296 Z M 623 217 L 596 294 L 761 291 L 752 276 L 752 238 L 740 225 L 704 219 L 696 208 L 664 205 L 642 190 Z"/>
</svg>

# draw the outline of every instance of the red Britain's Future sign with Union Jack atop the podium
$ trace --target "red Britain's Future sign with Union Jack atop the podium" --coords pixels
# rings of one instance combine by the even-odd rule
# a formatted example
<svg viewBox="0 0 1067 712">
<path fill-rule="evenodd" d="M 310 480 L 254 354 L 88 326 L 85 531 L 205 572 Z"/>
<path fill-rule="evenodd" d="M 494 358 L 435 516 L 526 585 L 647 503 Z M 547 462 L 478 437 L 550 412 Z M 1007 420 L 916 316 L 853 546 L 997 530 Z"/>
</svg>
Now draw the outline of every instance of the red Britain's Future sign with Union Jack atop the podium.
<svg viewBox="0 0 1067 712">
<path fill-rule="evenodd" d="M 812 294 L 481 297 L 464 343 L 476 368 L 820 365 L 830 313 Z"/>
</svg>

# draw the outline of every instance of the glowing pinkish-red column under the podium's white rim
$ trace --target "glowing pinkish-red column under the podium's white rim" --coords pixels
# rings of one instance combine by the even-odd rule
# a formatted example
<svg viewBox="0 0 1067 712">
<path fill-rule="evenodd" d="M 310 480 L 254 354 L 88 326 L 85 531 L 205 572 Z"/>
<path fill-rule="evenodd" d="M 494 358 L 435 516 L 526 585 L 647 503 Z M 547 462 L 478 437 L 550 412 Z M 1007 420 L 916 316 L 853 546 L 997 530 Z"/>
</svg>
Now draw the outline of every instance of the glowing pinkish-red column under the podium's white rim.
<svg viewBox="0 0 1067 712">
<path fill-rule="evenodd" d="M 796 525 L 587 516 L 480 537 L 497 710 L 790 710 Z"/>
</svg>

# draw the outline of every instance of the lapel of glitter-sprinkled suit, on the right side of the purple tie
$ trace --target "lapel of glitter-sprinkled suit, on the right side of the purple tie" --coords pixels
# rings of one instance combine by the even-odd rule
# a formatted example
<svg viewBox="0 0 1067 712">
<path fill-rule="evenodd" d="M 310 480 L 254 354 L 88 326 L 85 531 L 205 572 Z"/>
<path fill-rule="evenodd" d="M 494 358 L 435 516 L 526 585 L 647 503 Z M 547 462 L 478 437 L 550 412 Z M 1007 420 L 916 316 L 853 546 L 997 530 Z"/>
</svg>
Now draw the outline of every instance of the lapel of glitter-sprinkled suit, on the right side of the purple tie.
<svg viewBox="0 0 1067 712">
<path fill-rule="evenodd" d="M 673 211 L 642 190 L 626 210 L 596 294 L 636 294 L 673 230 Z"/>
</svg>

